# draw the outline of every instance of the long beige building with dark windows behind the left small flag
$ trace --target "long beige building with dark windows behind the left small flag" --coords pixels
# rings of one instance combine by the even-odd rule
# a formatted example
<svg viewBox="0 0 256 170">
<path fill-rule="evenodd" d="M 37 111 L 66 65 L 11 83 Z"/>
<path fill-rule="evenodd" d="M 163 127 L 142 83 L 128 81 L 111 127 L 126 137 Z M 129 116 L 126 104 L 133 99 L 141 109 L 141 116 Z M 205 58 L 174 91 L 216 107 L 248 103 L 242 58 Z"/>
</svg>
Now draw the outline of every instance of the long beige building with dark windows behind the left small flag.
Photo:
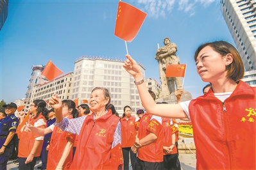
<svg viewBox="0 0 256 170">
<path fill-rule="evenodd" d="M 74 73 L 72 72 L 66 73 L 60 77 L 57 77 L 54 81 L 44 82 L 44 84 L 36 84 L 31 93 L 30 103 L 37 99 L 42 99 L 49 102 L 49 99 L 53 94 L 57 94 L 62 100 L 71 99 L 73 74 Z"/>
</svg>

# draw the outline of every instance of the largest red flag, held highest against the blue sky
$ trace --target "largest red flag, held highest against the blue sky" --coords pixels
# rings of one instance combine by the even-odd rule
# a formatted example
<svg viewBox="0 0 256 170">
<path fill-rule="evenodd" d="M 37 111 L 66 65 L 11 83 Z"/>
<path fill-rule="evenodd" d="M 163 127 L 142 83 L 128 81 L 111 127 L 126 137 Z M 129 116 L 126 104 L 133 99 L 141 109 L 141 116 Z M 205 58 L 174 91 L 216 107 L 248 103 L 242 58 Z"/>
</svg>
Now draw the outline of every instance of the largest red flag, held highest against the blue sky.
<svg viewBox="0 0 256 170">
<path fill-rule="evenodd" d="M 132 42 L 146 18 L 146 13 L 134 6 L 119 1 L 115 21 L 115 36 Z"/>
</svg>

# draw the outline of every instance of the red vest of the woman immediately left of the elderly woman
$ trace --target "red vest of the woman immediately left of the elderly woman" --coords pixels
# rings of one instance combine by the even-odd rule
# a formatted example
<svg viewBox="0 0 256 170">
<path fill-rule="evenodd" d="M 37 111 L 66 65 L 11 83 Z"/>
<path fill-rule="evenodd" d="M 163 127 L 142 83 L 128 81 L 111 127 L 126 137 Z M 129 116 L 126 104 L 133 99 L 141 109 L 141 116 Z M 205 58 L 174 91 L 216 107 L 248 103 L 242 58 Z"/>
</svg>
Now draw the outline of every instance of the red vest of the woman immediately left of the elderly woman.
<svg viewBox="0 0 256 170">
<path fill-rule="evenodd" d="M 68 119 L 71 119 L 72 115 Z M 64 152 L 65 146 L 67 145 L 67 138 L 69 138 L 73 143 L 76 135 L 69 132 L 62 131 L 59 127 L 55 126 L 53 129 L 53 134 L 51 135 L 51 142 L 49 147 L 49 153 L 47 158 L 47 169 L 56 169 L 60 158 Z M 64 169 L 69 169 L 73 159 L 73 149 L 70 150 L 69 155 L 63 166 Z"/>
</svg>

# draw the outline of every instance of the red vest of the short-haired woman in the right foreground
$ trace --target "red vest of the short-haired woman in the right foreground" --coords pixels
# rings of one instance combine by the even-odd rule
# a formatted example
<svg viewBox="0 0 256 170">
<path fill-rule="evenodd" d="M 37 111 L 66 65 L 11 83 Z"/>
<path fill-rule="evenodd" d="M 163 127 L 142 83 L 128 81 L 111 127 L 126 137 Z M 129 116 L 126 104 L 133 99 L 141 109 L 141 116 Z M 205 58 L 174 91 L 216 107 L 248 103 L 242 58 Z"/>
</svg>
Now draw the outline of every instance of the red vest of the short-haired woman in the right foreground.
<svg viewBox="0 0 256 170">
<path fill-rule="evenodd" d="M 191 100 L 197 169 L 256 169 L 255 95 L 240 81 L 223 103 L 211 89 Z"/>
</svg>

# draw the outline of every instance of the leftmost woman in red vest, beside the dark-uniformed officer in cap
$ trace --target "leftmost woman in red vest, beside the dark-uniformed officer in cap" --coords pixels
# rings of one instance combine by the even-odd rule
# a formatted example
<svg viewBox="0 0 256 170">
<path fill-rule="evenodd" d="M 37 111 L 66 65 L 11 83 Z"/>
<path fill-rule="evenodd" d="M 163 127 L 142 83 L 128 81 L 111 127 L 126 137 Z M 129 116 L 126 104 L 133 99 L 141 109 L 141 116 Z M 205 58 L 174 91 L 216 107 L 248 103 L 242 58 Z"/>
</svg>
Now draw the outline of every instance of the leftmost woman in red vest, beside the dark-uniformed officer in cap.
<svg viewBox="0 0 256 170">
<path fill-rule="evenodd" d="M 30 105 L 30 118 L 27 123 L 44 129 L 47 127 L 47 114 L 46 102 L 44 100 L 34 100 L 33 104 Z M 19 136 L 19 169 L 32 170 L 42 151 L 44 135 L 38 135 L 34 132 L 24 132 L 25 126 L 21 128 L 21 134 Z"/>
</svg>

